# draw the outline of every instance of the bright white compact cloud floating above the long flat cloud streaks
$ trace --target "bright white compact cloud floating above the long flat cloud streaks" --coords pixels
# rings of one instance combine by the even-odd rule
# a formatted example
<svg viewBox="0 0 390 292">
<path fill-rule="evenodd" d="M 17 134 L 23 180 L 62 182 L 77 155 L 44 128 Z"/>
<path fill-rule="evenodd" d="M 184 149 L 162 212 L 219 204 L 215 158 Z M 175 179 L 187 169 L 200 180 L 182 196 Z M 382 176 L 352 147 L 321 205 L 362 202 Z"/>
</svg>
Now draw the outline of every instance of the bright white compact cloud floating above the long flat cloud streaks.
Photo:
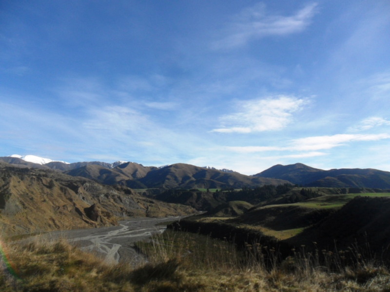
<svg viewBox="0 0 390 292">
<path fill-rule="evenodd" d="M 308 101 L 293 96 L 238 102 L 239 111 L 220 117 L 222 128 L 212 132 L 251 133 L 285 128 L 292 121 L 292 113 L 301 110 Z"/>
</svg>

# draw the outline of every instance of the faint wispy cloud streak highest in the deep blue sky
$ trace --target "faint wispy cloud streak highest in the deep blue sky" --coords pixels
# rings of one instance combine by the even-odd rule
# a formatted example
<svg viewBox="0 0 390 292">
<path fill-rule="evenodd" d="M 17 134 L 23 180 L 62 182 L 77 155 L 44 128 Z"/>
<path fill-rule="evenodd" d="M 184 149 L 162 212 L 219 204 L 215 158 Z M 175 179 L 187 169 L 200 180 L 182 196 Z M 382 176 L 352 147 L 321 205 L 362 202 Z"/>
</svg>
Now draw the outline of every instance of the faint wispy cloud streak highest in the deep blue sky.
<svg viewBox="0 0 390 292">
<path fill-rule="evenodd" d="M 267 15 L 262 3 L 241 11 L 226 37 L 214 43 L 214 48 L 233 48 L 252 39 L 284 36 L 303 31 L 316 12 L 316 3 L 309 3 L 291 16 Z"/>
</svg>

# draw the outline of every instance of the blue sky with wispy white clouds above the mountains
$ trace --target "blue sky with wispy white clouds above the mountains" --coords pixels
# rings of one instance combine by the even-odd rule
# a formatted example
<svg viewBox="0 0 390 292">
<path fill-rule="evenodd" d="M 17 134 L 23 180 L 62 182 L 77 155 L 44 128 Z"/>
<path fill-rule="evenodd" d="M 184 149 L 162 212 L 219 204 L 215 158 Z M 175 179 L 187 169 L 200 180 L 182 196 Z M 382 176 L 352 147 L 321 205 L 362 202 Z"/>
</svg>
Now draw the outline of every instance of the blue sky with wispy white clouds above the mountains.
<svg viewBox="0 0 390 292">
<path fill-rule="evenodd" d="M 388 0 L 3 0 L 0 156 L 390 171 Z"/>
</svg>

